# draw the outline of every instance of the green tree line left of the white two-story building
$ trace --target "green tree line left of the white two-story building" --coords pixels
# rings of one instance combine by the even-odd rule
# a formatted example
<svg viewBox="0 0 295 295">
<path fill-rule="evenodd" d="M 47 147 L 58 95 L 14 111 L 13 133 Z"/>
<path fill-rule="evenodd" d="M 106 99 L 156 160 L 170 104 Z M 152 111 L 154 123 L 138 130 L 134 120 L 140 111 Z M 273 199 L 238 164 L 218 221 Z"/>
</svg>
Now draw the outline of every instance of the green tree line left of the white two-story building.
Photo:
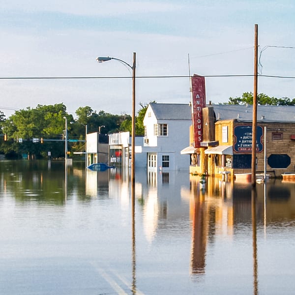
<svg viewBox="0 0 295 295">
<path fill-rule="evenodd" d="M 144 133 L 143 118 L 148 104 L 140 104 L 136 116 L 136 135 Z M 129 131 L 131 116 L 113 115 L 104 111 L 96 112 L 91 107 L 79 107 L 76 117 L 68 114 L 63 103 L 37 105 L 15 111 L 5 118 L 0 111 L 0 154 L 6 158 L 21 158 L 28 155 L 35 159 L 46 158 L 50 151 L 52 158 L 64 157 L 65 119 L 67 119 L 68 149 L 70 152 L 85 150 L 87 133 L 100 131 L 102 141 L 108 134 Z M 36 140 L 33 140 L 36 139 Z"/>
</svg>

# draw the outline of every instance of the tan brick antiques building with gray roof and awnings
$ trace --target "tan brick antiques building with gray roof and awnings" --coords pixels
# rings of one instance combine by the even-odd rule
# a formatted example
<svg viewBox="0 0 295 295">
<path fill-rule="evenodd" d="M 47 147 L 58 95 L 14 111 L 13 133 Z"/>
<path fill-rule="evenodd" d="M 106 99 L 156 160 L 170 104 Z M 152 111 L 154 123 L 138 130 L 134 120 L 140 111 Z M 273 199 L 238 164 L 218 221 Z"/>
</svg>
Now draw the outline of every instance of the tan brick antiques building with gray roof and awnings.
<svg viewBox="0 0 295 295">
<path fill-rule="evenodd" d="M 252 116 L 252 105 L 207 105 L 201 148 L 190 149 L 190 172 L 251 173 Z M 257 172 L 264 171 L 265 151 L 270 177 L 295 172 L 295 106 L 257 107 Z"/>
</svg>

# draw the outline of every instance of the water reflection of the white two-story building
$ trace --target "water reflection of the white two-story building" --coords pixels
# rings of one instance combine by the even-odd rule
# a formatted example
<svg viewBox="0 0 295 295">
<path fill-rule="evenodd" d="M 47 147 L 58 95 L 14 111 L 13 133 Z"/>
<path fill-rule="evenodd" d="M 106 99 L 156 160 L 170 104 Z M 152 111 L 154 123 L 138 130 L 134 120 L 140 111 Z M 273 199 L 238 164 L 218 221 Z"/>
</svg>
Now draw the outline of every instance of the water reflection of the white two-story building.
<svg viewBox="0 0 295 295">
<path fill-rule="evenodd" d="M 189 187 L 188 174 L 144 171 L 137 179 L 146 182 L 136 194 L 141 201 L 147 241 L 152 243 L 156 236 L 169 233 L 172 226 L 181 231 L 183 216 L 187 215 L 189 207 L 189 198 L 182 198 L 182 188 Z"/>
</svg>

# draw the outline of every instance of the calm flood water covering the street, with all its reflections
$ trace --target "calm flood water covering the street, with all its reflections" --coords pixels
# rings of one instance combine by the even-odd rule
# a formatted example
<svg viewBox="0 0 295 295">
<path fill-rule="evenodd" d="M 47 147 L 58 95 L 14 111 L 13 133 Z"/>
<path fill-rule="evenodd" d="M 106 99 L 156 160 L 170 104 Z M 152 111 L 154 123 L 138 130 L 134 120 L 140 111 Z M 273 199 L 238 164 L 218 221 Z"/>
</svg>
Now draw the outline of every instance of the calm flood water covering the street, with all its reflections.
<svg viewBox="0 0 295 295">
<path fill-rule="evenodd" d="M 0 294 L 294 294 L 295 182 L 198 181 L 1 161 Z"/>
</svg>

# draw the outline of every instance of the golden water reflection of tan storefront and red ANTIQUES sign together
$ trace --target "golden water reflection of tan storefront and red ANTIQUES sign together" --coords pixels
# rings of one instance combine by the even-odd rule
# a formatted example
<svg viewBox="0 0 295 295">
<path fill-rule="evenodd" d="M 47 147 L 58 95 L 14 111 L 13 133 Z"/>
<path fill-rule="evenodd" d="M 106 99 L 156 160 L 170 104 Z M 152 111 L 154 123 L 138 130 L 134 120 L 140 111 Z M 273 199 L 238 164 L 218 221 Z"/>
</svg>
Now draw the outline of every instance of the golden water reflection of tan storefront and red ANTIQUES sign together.
<svg viewBox="0 0 295 295">
<path fill-rule="evenodd" d="M 190 179 L 190 216 L 192 220 L 191 274 L 205 274 L 206 249 L 216 235 L 232 236 L 234 225 L 233 187 L 230 182 L 207 178 L 206 187 L 199 178 Z"/>
</svg>

